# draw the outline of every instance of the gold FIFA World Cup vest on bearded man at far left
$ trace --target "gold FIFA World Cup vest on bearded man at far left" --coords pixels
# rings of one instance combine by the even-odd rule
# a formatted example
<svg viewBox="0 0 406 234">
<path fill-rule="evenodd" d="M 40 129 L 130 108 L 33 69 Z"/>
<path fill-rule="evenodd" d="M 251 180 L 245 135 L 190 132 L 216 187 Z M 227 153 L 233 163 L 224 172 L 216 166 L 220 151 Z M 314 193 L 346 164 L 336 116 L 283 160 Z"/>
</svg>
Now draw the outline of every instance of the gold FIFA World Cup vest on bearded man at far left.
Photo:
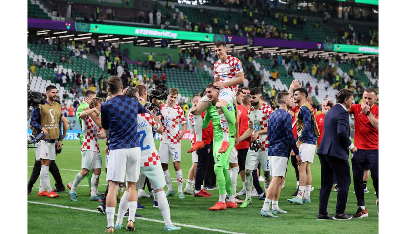
<svg viewBox="0 0 406 234">
<path fill-rule="evenodd" d="M 52 105 L 46 103 L 39 105 L 41 114 L 41 126 L 47 129 L 50 140 L 59 139 L 60 105 L 56 101 Z"/>
</svg>

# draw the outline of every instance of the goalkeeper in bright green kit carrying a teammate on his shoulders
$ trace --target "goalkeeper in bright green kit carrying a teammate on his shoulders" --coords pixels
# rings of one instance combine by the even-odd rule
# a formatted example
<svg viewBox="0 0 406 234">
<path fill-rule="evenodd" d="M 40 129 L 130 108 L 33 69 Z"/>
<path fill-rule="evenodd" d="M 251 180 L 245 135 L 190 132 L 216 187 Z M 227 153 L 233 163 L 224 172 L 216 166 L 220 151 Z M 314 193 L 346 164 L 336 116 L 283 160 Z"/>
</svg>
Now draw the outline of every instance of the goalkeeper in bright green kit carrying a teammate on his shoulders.
<svg viewBox="0 0 406 234">
<path fill-rule="evenodd" d="M 222 107 L 222 111 L 227 119 L 229 125 L 229 142 L 230 146 L 224 153 L 219 153 L 218 150 L 223 142 L 223 124 L 220 122 L 218 117 L 216 103 L 218 99 L 219 89 L 210 83 L 206 86 L 206 96 L 211 102 L 210 107 L 207 109 L 205 117 L 203 119 L 203 128 L 209 125 L 210 120 L 213 123 L 213 157 L 214 157 L 214 173 L 217 178 L 218 191 L 220 193 L 220 198 L 218 202 L 209 208 L 209 210 L 225 210 L 227 208 L 237 208 L 237 202 L 235 202 L 235 194 L 233 192 L 233 185 L 228 173 L 229 169 L 229 156 L 231 150 L 234 148 L 234 134 L 235 131 L 235 105 L 230 103 L 228 106 Z M 190 111 L 193 111 L 192 107 Z M 225 203 L 226 191 L 229 195 L 229 202 Z"/>
</svg>

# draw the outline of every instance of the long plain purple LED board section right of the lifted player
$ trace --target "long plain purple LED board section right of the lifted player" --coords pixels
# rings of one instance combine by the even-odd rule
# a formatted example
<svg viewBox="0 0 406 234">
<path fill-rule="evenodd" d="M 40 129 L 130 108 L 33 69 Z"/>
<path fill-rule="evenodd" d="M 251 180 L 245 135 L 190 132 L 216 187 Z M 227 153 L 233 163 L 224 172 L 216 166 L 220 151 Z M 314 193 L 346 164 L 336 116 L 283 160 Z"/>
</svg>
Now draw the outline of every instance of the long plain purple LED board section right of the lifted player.
<svg viewBox="0 0 406 234">
<path fill-rule="evenodd" d="M 262 45 L 269 47 L 286 47 L 286 48 L 296 48 L 296 49 L 324 49 L 323 43 L 318 42 L 308 42 L 308 41 L 287 41 L 279 39 L 268 39 L 268 38 L 254 38 L 254 45 Z"/>
</svg>

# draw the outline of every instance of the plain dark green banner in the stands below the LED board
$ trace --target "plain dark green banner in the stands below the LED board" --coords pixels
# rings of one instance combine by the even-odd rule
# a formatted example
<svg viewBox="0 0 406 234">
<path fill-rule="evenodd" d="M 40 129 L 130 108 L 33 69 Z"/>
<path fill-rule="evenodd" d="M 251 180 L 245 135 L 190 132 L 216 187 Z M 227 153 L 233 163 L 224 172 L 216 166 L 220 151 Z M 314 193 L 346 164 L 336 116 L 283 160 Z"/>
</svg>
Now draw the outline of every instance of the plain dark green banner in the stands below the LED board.
<svg viewBox="0 0 406 234">
<path fill-rule="evenodd" d="M 120 52 L 127 54 L 128 58 L 133 61 L 148 61 L 149 54 L 152 53 L 153 60 L 162 62 L 171 56 L 171 63 L 179 62 L 178 49 L 160 48 L 160 47 L 145 47 L 133 46 L 132 43 L 120 44 Z M 163 64 L 162 64 L 163 66 Z"/>
</svg>

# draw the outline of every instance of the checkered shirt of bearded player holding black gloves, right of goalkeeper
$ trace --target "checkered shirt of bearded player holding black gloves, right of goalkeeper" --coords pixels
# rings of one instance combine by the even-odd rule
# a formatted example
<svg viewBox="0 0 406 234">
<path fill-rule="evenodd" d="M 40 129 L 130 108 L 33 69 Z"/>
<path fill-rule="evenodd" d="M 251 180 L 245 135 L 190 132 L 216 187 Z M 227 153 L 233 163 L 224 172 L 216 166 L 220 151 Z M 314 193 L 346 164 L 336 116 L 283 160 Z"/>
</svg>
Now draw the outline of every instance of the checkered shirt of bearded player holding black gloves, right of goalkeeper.
<svg viewBox="0 0 406 234">
<path fill-rule="evenodd" d="M 268 127 L 268 119 L 274 110 L 270 105 L 262 103 L 262 105 L 255 109 L 251 107 L 248 109 L 249 124 L 253 126 L 253 133 Z M 261 143 L 261 150 L 268 150 L 268 135 L 259 135 L 257 140 Z"/>
</svg>

